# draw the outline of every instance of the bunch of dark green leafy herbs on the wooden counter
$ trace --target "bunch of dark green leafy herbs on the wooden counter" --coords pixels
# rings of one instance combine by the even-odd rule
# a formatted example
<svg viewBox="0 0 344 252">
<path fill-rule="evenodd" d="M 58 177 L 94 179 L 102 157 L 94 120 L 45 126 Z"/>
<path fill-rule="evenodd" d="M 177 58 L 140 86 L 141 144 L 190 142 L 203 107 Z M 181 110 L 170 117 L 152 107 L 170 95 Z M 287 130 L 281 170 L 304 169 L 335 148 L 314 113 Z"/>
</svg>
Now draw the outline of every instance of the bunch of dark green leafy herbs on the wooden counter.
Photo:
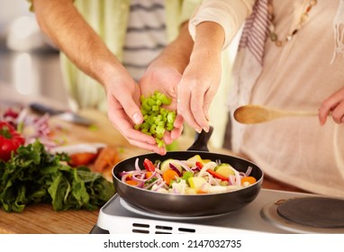
<svg viewBox="0 0 344 252">
<path fill-rule="evenodd" d="M 115 193 L 113 183 L 86 166 L 67 165 L 67 154 L 50 154 L 40 141 L 21 146 L 7 162 L 0 160 L 0 207 L 24 210 L 35 202 L 54 211 L 94 211 Z"/>
</svg>

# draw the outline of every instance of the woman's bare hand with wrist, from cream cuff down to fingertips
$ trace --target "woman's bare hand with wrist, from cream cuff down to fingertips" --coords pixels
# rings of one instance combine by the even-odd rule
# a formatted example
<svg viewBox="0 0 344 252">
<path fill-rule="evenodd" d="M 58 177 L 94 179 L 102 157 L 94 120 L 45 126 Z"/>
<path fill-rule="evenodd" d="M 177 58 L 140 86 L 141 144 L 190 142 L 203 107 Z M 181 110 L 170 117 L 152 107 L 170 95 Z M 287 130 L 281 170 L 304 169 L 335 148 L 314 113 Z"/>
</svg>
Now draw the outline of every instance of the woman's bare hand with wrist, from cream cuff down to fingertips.
<svg viewBox="0 0 344 252">
<path fill-rule="evenodd" d="M 178 84 L 177 112 L 197 132 L 209 130 L 209 108 L 221 80 L 223 41 L 220 24 L 198 24 L 190 62 Z"/>
</svg>

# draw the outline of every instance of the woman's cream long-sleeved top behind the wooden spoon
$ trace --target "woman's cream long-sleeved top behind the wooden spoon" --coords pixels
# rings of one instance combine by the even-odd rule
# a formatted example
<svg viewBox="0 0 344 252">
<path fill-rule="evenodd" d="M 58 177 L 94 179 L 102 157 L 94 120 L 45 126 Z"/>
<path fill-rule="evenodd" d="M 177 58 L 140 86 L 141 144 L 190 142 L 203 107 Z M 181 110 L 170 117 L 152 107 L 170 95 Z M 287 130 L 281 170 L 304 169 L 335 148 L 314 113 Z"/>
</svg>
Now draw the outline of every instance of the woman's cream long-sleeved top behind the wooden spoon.
<svg viewBox="0 0 344 252">
<path fill-rule="evenodd" d="M 226 31 L 227 44 L 240 29 L 255 1 L 205 0 L 195 14 L 195 23 L 216 21 Z M 276 33 L 285 37 L 294 31 L 308 1 L 274 0 Z M 225 6 L 225 7 L 224 7 Z M 236 103 L 267 105 L 282 110 L 317 112 L 323 100 L 344 87 L 344 58 L 338 54 L 331 64 L 335 48 L 333 19 L 339 0 L 318 0 L 309 19 L 284 47 L 267 40 L 264 66 L 254 85 L 245 89 L 237 74 L 242 70 L 236 58 L 233 74 Z M 190 31 L 194 31 L 191 27 Z M 342 41 L 343 42 L 343 41 Z M 244 73 L 242 73 L 244 74 Z M 249 71 L 246 75 L 249 75 Z M 235 86 L 238 85 L 238 86 Z M 238 87 L 238 88 L 236 88 Z M 289 117 L 255 125 L 242 125 L 232 119 L 233 151 L 248 157 L 277 180 L 303 190 L 344 197 L 344 125 L 329 118 L 320 126 L 318 118 Z"/>
</svg>

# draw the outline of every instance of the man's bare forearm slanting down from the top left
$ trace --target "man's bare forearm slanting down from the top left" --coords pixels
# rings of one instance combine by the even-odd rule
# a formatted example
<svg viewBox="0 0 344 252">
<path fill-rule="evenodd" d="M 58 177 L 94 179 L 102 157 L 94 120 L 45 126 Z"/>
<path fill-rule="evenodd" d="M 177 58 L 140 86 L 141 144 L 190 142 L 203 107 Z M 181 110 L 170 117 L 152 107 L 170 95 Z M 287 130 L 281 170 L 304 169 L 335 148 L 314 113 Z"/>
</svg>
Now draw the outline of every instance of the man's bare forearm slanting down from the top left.
<svg viewBox="0 0 344 252">
<path fill-rule="evenodd" d="M 41 30 L 88 76 L 104 83 L 113 66 L 122 67 L 72 0 L 33 0 L 33 4 Z"/>
</svg>

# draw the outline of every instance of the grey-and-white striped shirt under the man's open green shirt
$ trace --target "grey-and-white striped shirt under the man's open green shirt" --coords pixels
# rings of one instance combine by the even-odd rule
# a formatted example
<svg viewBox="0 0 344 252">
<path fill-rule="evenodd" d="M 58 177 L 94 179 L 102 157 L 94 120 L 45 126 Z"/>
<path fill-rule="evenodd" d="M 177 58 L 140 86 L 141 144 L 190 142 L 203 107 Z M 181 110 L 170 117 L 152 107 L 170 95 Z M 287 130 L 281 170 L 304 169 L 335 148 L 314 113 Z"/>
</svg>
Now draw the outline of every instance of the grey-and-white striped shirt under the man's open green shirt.
<svg viewBox="0 0 344 252">
<path fill-rule="evenodd" d="M 122 63 L 136 81 L 167 45 L 164 2 L 131 1 Z"/>
</svg>

